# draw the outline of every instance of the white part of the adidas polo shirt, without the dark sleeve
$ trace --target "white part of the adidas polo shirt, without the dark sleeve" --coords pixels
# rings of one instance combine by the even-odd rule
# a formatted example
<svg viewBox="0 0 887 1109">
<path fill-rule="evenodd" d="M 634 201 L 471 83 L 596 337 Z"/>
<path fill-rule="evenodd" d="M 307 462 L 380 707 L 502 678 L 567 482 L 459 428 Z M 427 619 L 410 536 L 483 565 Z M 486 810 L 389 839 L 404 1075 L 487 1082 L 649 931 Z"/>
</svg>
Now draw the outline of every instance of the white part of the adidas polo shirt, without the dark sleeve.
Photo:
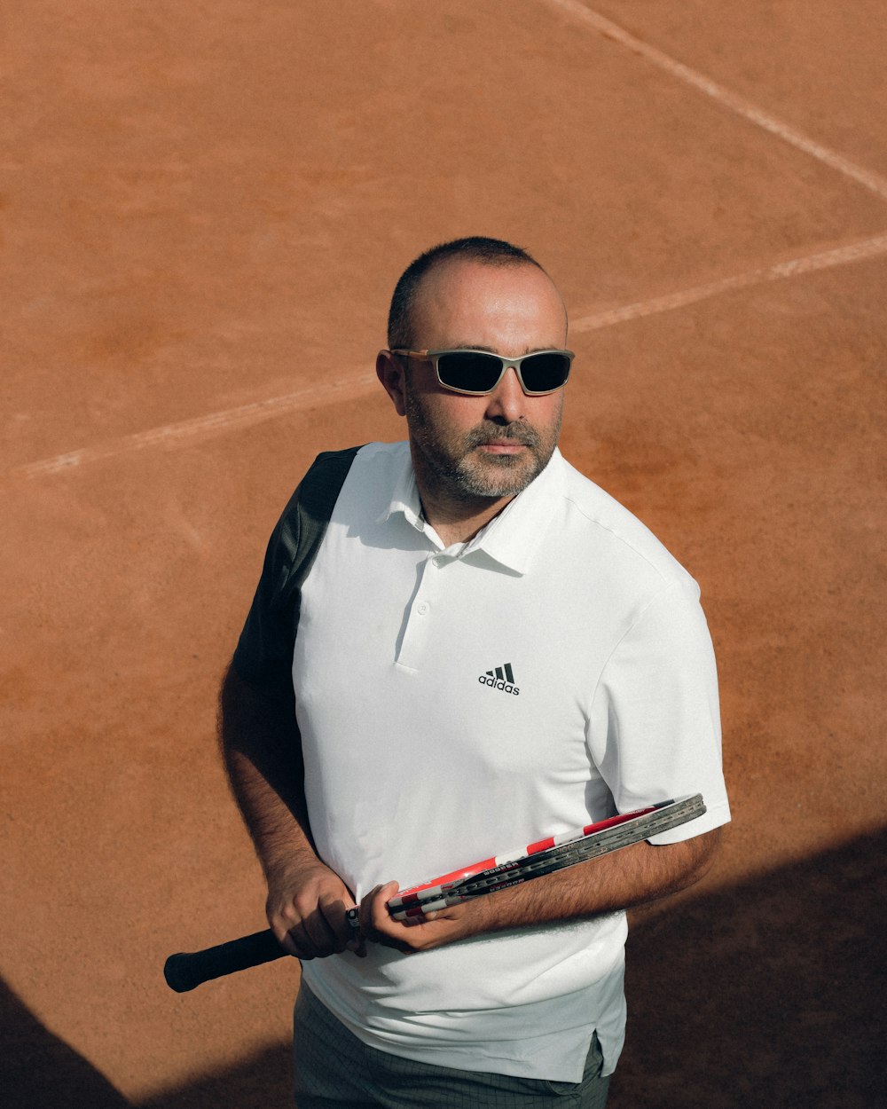
<svg viewBox="0 0 887 1109">
<path fill-rule="evenodd" d="M 293 655 L 320 857 L 360 897 L 652 802 L 730 820 L 693 579 L 555 451 L 468 543 L 424 520 L 406 442 L 361 448 L 302 590 Z M 622 1048 L 624 914 L 304 965 L 361 1040 L 579 1081 Z"/>
</svg>

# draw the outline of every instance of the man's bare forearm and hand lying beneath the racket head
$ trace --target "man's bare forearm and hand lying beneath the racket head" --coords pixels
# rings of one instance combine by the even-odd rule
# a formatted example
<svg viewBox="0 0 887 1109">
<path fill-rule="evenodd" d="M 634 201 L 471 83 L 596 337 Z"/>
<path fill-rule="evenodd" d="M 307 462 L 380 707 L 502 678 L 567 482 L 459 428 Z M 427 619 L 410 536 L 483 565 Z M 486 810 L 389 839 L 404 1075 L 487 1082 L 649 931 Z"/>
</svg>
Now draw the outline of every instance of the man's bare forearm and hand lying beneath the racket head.
<svg viewBox="0 0 887 1109">
<path fill-rule="evenodd" d="M 396 882 L 360 903 L 360 928 L 370 939 L 404 952 L 428 950 L 504 928 L 603 916 L 676 893 L 708 871 L 721 836 L 715 828 L 692 840 L 655 846 L 643 842 L 522 885 L 429 914 L 421 924 L 392 920 L 385 903 Z"/>
</svg>

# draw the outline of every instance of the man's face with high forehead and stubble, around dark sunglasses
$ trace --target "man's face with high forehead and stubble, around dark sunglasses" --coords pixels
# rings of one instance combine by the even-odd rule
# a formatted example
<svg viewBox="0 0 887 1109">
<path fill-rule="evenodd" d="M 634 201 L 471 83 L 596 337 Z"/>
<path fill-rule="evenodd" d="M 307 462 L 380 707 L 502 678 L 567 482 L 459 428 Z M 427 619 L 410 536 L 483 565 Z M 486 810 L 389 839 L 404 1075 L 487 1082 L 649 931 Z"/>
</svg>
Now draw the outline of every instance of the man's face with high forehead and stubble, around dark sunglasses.
<svg viewBox="0 0 887 1109">
<path fill-rule="evenodd" d="M 417 349 L 472 347 L 517 358 L 562 349 L 567 316 L 536 266 L 453 261 L 424 282 L 412 337 Z M 465 396 L 445 389 L 430 363 L 410 359 L 404 407 L 420 486 L 475 501 L 512 497 L 544 469 L 558 444 L 563 390 L 528 397 L 509 368 L 492 393 Z"/>
</svg>

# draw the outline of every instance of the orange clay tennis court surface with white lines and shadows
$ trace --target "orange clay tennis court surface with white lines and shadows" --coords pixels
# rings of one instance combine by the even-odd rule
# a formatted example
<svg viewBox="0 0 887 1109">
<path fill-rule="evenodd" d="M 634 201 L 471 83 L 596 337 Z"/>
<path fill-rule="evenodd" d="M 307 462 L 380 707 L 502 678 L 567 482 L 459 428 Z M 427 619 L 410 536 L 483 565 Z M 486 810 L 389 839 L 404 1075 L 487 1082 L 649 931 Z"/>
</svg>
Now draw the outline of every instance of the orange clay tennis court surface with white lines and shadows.
<svg viewBox="0 0 887 1109">
<path fill-rule="evenodd" d="M 290 1103 L 295 960 L 161 975 L 264 926 L 215 693 L 307 465 L 402 437 L 390 291 L 465 234 L 560 285 L 563 452 L 700 581 L 718 657 L 734 823 L 634 916 L 610 1105 L 883 1103 L 880 0 L 4 24 L 3 1103 Z"/>
</svg>

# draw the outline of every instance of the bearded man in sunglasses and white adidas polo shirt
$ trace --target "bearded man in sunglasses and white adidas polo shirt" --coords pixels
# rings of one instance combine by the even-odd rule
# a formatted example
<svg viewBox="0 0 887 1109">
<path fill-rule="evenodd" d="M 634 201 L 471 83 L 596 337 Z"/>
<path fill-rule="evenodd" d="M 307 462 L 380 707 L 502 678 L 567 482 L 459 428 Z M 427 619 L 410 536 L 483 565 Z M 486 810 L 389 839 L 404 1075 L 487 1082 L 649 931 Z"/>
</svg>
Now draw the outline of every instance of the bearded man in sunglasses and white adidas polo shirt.
<svg viewBox="0 0 887 1109">
<path fill-rule="evenodd" d="M 303 960 L 297 1101 L 603 1106 L 623 910 L 697 881 L 730 818 L 699 590 L 557 450 L 567 314 L 528 254 L 427 252 L 388 342 L 408 441 L 348 452 L 297 590 L 290 501 L 222 694 L 268 920 Z M 421 924 L 386 909 L 398 882 L 697 792 L 707 814 L 654 842 Z"/>
</svg>

